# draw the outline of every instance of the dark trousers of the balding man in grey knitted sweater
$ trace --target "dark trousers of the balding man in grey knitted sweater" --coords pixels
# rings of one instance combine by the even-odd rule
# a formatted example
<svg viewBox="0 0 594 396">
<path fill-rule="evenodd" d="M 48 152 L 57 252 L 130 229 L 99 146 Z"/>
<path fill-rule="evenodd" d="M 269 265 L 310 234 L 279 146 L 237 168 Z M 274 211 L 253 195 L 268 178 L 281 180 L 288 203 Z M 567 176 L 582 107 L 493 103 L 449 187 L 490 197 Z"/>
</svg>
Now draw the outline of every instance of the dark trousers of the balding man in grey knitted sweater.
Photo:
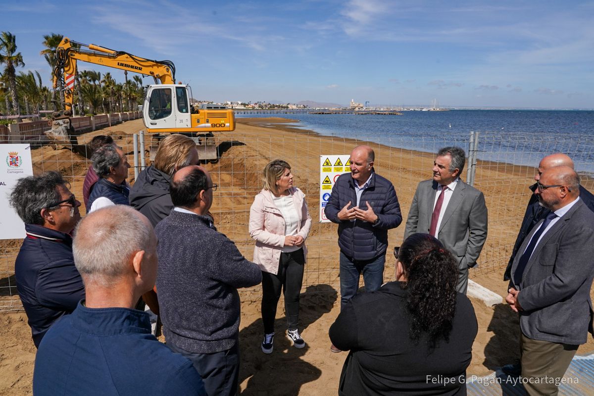
<svg viewBox="0 0 594 396">
<path fill-rule="evenodd" d="M 216 353 L 195 353 L 167 343 L 194 363 L 208 396 L 235 396 L 239 380 L 239 342 L 231 349 Z"/>
</svg>

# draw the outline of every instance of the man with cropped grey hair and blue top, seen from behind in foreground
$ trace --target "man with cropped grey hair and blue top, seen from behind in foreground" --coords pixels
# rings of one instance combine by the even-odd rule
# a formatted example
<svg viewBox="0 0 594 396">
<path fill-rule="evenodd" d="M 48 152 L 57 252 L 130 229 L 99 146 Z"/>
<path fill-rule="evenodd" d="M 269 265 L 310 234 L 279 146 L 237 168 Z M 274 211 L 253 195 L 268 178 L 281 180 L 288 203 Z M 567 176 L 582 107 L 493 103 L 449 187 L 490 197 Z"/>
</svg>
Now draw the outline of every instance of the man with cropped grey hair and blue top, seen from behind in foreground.
<svg viewBox="0 0 594 396">
<path fill-rule="evenodd" d="M 80 222 L 72 248 L 85 297 L 43 337 L 34 395 L 206 395 L 192 362 L 160 343 L 149 314 L 134 309 L 154 286 L 156 245 L 149 220 L 124 205 Z"/>
</svg>

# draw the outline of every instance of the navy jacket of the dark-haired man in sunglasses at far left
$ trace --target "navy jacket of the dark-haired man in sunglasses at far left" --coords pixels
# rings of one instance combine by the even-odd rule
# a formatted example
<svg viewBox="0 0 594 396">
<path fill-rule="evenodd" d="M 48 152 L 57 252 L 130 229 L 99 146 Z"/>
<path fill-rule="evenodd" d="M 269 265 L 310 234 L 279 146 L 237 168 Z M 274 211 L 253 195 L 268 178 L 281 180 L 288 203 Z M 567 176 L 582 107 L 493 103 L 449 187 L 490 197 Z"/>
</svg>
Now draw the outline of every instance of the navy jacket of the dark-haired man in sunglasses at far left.
<svg viewBox="0 0 594 396">
<path fill-rule="evenodd" d="M 53 322 L 84 299 L 84 285 L 74 267 L 70 235 L 35 224 L 25 224 L 25 230 L 14 275 L 33 343 L 39 347 Z"/>
</svg>

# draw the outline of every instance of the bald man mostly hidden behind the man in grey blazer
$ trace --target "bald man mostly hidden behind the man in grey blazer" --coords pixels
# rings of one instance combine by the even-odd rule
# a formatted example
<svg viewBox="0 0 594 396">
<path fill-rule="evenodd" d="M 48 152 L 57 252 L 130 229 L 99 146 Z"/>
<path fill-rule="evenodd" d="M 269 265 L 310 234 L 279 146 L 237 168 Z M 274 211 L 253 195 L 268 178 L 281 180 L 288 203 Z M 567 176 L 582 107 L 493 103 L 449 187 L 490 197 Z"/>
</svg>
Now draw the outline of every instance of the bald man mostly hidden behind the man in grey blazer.
<svg viewBox="0 0 594 396">
<path fill-rule="evenodd" d="M 534 180 L 538 183 L 538 180 L 541 179 L 542 172 L 555 166 L 567 166 L 571 169 L 574 167 L 573 160 L 571 160 L 569 156 L 563 153 L 554 153 L 544 157 L 538 164 L 538 168 L 536 169 L 536 173 L 534 175 Z M 503 280 L 510 280 L 511 264 L 514 261 L 514 258 L 516 258 L 518 249 L 522 245 L 522 242 L 524 242 L 526 235 L 530 233 L 536 223 L 545 218 L 549 213 L 547 208 L 539 204 L 538 195 L 536 194 L 537 183 L 534 183 L 529 187 L 533 194 L 530 195 L 530 199 L 526 207 L 526 213 L 524 214 L 524 219 L 522 220 L 522 226 L 520 226 L 520 232 L 516 238 L 516 243 L 514 243 L 514 249 L 511 252 L 510 261 L 507 263 L 507 268 L 505 268 Z M 587 189 L 583 188 L 582 186 L 580 186 L 580 198 L 582 201 L 584 201 L 584 204 L 590 208 L 591 211 L 594 211 L 594 195 L 592 195 L 592 193 L 587 191 Z"/>
</svg>

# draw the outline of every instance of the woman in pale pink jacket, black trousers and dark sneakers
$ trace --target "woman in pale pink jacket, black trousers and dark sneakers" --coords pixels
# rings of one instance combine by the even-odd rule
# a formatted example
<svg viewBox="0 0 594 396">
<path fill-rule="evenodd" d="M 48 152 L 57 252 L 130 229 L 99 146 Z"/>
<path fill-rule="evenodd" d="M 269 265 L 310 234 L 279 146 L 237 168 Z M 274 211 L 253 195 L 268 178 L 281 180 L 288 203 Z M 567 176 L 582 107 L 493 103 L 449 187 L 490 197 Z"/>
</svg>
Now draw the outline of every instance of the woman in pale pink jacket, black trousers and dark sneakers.
<svg viewBox="0 0 594 396">
<path fill-rule="evenodd" d="M 256 240 L 254 262 L 262 270 L 262 351 L 272 353 L 274 318 L 285 291 L 287 338 L 296 348 L 305 347 L 299 334 L 299 293 L 311 229 L 305 194 L 293 187 L 291 167 L 274 160 L 264 167 L 264 188 L 249 210 L 249 235 Z"/>
</svg>

